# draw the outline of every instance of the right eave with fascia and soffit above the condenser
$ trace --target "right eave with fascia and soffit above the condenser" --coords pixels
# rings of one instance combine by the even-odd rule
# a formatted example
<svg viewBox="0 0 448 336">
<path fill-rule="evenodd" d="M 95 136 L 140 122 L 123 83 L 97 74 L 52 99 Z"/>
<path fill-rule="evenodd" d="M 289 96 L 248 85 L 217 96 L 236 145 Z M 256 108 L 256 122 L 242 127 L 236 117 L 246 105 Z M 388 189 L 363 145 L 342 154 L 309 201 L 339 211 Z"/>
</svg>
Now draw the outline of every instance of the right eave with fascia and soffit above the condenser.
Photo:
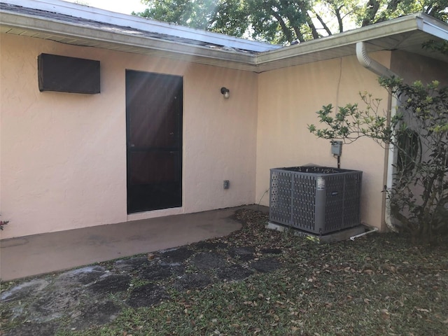
<svg viewBox="0 0 448 336">
<path fill-rule="evenodd" d="M 258 70 L 307 64 L 356 55 L 356 43 L 365 42 L 367 52 L 403 50 L 448 62 L 448 55 L 422 48 L 429 41 L 448 40 L 448 25 L 428 15 L 414 14 L 342 34 L 336 34 L 257 56 Z"/>
</svg>

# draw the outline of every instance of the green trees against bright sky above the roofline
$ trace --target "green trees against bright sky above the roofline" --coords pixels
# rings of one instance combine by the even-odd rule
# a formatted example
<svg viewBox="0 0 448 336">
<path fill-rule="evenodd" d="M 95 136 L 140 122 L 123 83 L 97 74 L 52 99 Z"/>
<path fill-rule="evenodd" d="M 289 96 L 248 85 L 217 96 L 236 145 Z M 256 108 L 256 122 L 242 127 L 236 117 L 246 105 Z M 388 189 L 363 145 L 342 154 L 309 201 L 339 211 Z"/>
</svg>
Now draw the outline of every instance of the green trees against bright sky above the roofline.
<svg viewBox="0 0 448 336">
<path fill-rule="evenodd" d="M 400 15 L 448 21 L 448 0 L 143 0 L 145 18 L 270 43 L 307 41 Z M 134 13 L 135 14 L 135 13 Z"/>
</svg>

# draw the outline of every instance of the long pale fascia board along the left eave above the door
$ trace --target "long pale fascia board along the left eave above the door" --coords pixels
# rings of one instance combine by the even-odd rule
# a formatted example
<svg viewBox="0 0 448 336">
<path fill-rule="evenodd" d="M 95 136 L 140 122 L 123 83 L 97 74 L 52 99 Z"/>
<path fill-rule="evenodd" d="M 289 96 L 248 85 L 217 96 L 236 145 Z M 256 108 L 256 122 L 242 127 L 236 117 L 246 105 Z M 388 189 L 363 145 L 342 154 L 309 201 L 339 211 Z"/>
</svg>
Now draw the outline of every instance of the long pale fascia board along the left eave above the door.
<svg viewBox="0 0 448 336">
<path fill-rule="evenodd" d="M 85 27 L 73 23 L 69 24 L 66 22 L 52 21 L 47 18 L 35 18 L 32 16 L 16 15 L 15 13 L 5 13 L 0 11 L 0 25 L 38 31 L 53 36 L 64 36 L 117 45 L 129 45 L 148 50 L 161 50 L 195 57 L 206 57 L 211 59 L 221 59 L 228 62 L 255 65 L 255 57 L 250 53 L 221 50 L 218 48 L 212 49 L 202 45 L 179 43 L 178 41 L 167 41 L 162 38 L 150 38 L 147 36 L 137 36 L 135 34 L 120 34 L 116 31 L 104 31 L 104 29 L 95 29 L 94 27 Z"/>
</svg>

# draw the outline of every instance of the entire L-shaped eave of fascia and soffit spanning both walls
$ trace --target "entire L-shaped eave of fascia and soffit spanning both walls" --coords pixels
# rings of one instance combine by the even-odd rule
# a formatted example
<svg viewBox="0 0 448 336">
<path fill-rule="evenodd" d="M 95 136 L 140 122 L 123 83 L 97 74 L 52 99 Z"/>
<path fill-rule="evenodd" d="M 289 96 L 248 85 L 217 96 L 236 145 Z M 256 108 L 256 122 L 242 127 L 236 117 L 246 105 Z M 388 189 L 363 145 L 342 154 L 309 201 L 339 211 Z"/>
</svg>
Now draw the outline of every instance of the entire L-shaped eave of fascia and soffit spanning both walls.
<svg viewBox="0 0 448 336">
<path fill-rule="evenodd" d="M 257 73 L 356 55 L 356 43 L 360 41 L 367 43 L 368 52 L 404 50 L 448 62 L 447 55 L 421 48 L 429 39 L 448 40 L 448 25 L 423 14 L 407 15 L 299 45 L 273 46 L 274 50 L 254 52 L 32 8 L 17 10 L 16 7 L 10 10 L 9 4 L 0 3 L 1 33 Z"/>
</svg>

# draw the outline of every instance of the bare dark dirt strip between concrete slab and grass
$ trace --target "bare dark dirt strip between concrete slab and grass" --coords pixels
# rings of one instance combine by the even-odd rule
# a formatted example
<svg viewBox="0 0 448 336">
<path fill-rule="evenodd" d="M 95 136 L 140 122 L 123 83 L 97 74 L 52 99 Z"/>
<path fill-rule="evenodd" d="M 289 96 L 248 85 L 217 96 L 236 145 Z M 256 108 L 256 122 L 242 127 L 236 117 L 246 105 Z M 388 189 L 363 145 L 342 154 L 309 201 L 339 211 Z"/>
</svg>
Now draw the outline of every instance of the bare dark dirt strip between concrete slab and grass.
<svg viewBox="0 0 448 336">
<path fill-rule="evenodd" d="M 239 216 L 266 216 L 246 211 Z M 257 219 L 257 218 L 255 218 Z M 242 281 L 281 267 L 279 248 L 232 246 L 211 239 L 11 283 L 1 293 L 1 336 L 55 335 L 113 321 L 124 308 L 170 300 L 175 289 L 196 290 L 217 281 Z M 3 287 L 4 288 L 4 287 Z"/>
</svg>

